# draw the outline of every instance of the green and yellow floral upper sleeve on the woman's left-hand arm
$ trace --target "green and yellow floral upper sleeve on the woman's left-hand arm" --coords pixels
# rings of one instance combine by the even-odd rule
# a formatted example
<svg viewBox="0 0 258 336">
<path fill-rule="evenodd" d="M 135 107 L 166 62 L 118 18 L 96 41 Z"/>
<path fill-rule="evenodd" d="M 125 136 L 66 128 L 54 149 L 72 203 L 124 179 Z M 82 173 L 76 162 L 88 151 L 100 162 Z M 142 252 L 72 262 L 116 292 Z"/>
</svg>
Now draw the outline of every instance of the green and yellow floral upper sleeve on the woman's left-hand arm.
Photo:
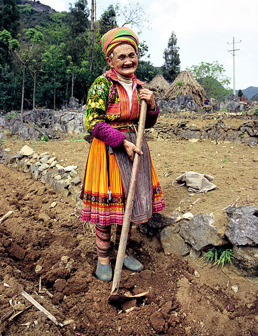
<svg viewBox="0 0 258 336">
<path fill-rule="evenodd" d="M 106 105 L 108 99 L 108 87 L 104 76 L 98 77 L 89 89 L 86 113 L 85 128 L 92 134 L 93 128 L 105 120 Z"/>
</svg>

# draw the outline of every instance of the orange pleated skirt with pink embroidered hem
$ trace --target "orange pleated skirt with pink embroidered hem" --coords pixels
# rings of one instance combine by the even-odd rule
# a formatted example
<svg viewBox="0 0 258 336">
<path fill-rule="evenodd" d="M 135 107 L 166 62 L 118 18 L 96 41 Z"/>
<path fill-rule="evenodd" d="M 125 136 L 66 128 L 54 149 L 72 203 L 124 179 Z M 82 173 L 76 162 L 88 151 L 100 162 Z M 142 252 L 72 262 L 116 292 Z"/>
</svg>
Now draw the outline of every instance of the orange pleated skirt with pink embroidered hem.
<svg viewBox="0 0 258 336">
<path fill-rule="evenodd" d="M 109 154 L 109 180 L 112 191 L 111 202 L 108 202 L 108 174 L 106 145 L 103 141 L 93 139 L 88 155 L 85 172 L 83 208 L 81 219 L 99 225 L 122 224 L 126 205 L 126 194 L 117 165 L 116 157 Z M 164 197 L 158 177 L 151 159 L 152 169 L 152 212 L 161 211 Z M 149 219 L 149 218 L 148 218 Z"/>
</svg>

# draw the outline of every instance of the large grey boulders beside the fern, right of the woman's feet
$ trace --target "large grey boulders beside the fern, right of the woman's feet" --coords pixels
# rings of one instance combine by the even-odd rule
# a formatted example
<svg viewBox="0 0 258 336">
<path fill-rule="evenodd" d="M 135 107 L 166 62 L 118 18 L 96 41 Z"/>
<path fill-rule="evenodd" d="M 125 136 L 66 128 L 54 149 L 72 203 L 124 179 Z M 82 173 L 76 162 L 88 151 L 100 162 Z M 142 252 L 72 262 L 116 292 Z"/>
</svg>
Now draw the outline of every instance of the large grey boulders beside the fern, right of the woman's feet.
<svg viewBox="0 0 258 336">
<path fill-rule="evenodd" d="M 148 223 L 140 224 L 140 230 L 160 238 L 165 254 L 175 254 L 195 259 L 201 251 L 212 246 L 232 246 L 233 265 L 225 272 L 252 279 L 258 284 L 258 207 L 242 206 L 226 208 L 229 222 L 226 232 L 219 233 L 214 226 L 213 214 L 196 214 L 185 220 L 174 212 L 171 217 L 153 214 Z"/>
</svg>

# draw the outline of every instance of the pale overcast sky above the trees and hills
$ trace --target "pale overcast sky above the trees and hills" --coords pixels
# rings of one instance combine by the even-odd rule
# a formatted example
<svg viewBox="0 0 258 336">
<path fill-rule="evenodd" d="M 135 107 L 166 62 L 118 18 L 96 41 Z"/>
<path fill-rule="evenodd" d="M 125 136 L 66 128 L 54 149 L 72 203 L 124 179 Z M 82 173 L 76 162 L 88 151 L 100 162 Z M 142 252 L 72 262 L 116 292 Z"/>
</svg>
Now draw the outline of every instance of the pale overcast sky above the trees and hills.
<svg viewBox="0 0 258 336">
<path fill-rule="evenodd" d="M 40 0 L 57 11 L 68 11 L 74 0 Z M 137 1 L 120 0 L 121 8 Z M 154 66 L 164 62 L 163 52 L 171 32 L 178 38 L 181 71 L 201 61 L 219 61 L 231 78 L 233 88 L 233 55 L 228 50 L 235 42 L 235 88 L 258 87 L 258 1 L 232 0 L 142 0 L 144 12 L 149 15 L 150 28 L 143 29 L 141 41 L 146 41 Z M 112 0 L 97 0 L 99 17 Z M 88 6 L 91 1 L 88 0 Z M 120 22 L 120 24 L 123 24 Z M 134 28 L 133 28 L 134 29 Z M 134 29 L 137 33 L 137 28 Z"/>
</svg>

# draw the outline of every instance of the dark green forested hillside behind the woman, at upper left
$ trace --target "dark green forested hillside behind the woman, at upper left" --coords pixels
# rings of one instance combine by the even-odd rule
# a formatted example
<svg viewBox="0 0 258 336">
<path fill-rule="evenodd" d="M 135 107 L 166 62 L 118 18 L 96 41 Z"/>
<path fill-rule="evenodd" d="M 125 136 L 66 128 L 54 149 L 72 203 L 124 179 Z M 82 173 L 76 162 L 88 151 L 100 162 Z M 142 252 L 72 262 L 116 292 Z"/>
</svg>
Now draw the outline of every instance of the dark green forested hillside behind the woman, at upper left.
<svg viewBox="0 0 258 336">
<path fill-rule="evenodd" d="M 110 5 L 95 21 L 87 0 L 62 13 L 31 3 L 0 0 L 0 110 L 21 110 L 24 99 L 51 109 L 71 96 L 85 103 L 93 79 L 106 70 L 99 41 L 117 26 L 119 6 Z M 146 53 L 140 43 L 139 56 Z M 150 62 L 139 61 L 137 77 L 150 81 L 157 73 Z"/>
</svg>

